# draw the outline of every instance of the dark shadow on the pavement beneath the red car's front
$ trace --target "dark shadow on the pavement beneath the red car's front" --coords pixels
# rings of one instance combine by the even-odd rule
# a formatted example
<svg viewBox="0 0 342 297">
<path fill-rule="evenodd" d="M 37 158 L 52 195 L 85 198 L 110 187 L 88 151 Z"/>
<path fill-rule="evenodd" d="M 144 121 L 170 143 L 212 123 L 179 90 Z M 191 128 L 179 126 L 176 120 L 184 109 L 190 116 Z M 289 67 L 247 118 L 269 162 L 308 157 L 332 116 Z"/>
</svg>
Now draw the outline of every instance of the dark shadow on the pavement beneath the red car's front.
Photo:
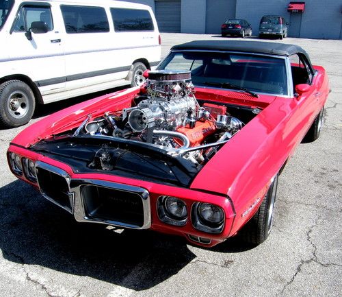
<svg viewBox="0 0 342 297">
<path fill-rule="evenodd" d="M 181 237 L 114 230 L 75 222 L 20 180 L 0 188 L 0 250 L 8 261 L 140 291 L 165 281 L 196 258 Z M 227 243 L 213 252 L 244 250 L 234 241 Z"/>
</svg>

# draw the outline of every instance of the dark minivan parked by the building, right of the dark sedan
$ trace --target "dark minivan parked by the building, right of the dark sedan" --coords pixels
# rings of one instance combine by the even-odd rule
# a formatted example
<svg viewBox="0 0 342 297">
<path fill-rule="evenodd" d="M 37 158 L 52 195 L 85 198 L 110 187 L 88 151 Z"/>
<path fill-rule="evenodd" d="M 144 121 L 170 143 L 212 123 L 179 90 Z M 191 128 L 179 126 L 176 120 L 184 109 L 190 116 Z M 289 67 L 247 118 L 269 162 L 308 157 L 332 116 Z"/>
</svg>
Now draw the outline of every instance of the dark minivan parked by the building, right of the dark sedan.
<svg viewBox="0 0 342 297">
<path fill-rule="evenodd" d="M 287 25 L 282 16 L 263 16 L 259 25 L 259 38 L 265 36 L 278 36 L 280 39 L 287 37 Z"/>
</svg>

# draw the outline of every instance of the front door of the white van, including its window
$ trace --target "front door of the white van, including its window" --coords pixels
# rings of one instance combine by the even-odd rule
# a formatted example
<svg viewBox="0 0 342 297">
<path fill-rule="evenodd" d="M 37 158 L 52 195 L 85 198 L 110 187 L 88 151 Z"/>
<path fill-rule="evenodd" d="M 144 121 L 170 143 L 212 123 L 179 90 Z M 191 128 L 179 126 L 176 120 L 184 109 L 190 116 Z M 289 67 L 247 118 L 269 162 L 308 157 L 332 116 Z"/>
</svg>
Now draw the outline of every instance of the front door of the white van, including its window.
<svg viewBox="0 0 342 297">
<path fill-rule="evenodd" d="M 47 23 L 49 31 L 31 32 L 31 23 L 36 21 Z M 2 47 L 10 53 L 13 74 L 28 76 L 43 96 L 64 90 L 64 51 L 55 5 L 23 2 L 18 8 L 8 43 Z"/>
</svg>

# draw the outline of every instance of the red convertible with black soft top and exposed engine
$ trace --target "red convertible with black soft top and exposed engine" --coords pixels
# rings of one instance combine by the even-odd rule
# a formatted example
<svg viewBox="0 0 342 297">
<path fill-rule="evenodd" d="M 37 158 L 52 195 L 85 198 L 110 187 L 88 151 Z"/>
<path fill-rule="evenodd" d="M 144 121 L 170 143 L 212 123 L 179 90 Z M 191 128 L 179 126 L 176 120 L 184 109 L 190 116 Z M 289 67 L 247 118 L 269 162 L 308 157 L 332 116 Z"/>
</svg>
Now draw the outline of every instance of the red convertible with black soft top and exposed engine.
<svg viewBox="0 0 342 297">
<path fill-rule="evenodd" d="M 215 246 L 272 228 L 278 176 L 319 136 L 326 71 L 295 45 L 193 41 L 142 87 L 56 112 L 16 136 L 13 174 L 77 222 Z"/>
</svg>

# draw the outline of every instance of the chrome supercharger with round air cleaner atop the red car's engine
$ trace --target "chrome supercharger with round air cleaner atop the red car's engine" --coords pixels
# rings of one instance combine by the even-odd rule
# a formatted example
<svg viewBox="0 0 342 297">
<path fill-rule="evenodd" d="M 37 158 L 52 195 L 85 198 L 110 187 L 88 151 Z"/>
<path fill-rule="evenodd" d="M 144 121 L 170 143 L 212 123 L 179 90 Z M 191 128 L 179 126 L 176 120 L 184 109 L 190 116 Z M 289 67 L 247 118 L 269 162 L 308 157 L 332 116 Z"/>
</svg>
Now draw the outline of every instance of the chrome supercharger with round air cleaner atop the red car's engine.
<svg viewBox="0 0 342 297">
<path fill-rule="evenodd" d="M 146 91 L 148 98 L 130 110 L 128 123 L 142 132 L 154 121 L 157 129 L 176 130 L 196 120 L 198 103 L 189 72 L 150 71 Z"/>
</svg>

